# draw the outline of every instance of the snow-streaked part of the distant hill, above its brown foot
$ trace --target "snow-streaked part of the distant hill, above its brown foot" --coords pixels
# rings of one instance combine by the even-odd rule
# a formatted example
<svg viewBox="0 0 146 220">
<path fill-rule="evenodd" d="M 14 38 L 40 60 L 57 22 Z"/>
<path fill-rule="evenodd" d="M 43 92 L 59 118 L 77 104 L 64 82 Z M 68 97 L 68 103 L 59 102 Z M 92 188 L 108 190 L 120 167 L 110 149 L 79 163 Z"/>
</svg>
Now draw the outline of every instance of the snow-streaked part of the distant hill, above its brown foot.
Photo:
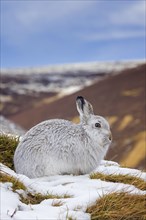
<svg viewBox="0 0 146 220">
<path fill-rule="evenodd" d="M 2 98 L 10 94 L 64 91 L 70 87 L 87 87 L 109 74 L 144 64 L 143 60 L 75 63 L 46 67 L 1 70 Z M 8 100 L 9 101 L 9 100 Z"/>
</svg>

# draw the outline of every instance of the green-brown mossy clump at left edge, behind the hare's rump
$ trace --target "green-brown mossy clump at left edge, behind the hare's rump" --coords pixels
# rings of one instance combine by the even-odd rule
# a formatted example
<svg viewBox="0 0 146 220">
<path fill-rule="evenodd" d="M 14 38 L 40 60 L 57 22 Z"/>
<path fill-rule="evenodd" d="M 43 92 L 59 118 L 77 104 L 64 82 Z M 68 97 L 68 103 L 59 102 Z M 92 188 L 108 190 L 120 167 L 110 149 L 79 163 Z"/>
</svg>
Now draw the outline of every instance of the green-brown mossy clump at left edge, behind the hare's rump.
<svg viewBox="0 0 146 220">
<path fill-rule="evenodd" d="M 18 143 L 18 137 L 0 135 L 0 162 L 11 169 L 14 169 L 13 156 Z"/>
</svg>

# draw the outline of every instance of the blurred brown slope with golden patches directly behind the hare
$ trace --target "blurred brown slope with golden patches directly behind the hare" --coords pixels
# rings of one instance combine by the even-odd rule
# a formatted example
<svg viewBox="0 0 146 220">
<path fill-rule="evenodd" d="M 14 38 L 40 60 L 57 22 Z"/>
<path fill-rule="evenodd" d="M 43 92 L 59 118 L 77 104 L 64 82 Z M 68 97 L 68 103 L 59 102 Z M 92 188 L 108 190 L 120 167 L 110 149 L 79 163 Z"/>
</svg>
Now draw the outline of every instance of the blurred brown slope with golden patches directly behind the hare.
<svg viewBox="0 0 146 220">
<path fill-rule="evenodd" d="M 145 169 L 145 82 L 144 64 L 112 74 L 74 94 L 39 100 L 31 108 L 9 118 L 25 129 L 50 118 L 77 121 L 75 99 L 82 95 L 92 103 L 96 114 L 108 117 L 111 123 L 113 144 L 107 159 Z"/>
</svg>

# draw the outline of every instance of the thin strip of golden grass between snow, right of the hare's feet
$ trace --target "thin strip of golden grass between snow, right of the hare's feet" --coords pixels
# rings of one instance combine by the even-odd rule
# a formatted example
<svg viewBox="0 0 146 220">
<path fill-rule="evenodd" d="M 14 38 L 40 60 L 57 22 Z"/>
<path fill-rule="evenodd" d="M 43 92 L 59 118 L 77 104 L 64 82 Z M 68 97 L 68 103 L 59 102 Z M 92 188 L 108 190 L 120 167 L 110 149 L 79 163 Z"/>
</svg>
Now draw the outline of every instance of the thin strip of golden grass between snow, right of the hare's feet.
<svg viewBox="0 0 146 220">
<path fill-rule="evenodd" d="M 128 174 L 106 175 L 102 173 L 92 173 L 90 174 L 90 178 L 100 179 L 100 180 L 107 181 L 107 182 L 130 184 L 130 185 L 134 185 L 138 189 L 146 190 L 146 182 L 143 179 L 139 177 L 135 177 L 135 176 L 130 176 Z"/>
</svg>

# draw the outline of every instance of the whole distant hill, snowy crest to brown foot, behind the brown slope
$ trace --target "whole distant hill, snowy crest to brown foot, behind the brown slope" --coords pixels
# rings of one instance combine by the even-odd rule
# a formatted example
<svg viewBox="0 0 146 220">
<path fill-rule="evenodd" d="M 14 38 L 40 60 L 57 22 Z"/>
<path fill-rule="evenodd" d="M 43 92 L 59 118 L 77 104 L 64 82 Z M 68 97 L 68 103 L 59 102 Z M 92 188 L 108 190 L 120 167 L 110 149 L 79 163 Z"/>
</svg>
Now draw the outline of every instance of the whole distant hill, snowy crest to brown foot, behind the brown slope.
<svg viewBox="0 0 146 220">
<path fill-rule="evenodd" d="M 79 91 L 112 72 L 118 73 L 143 63 L 143 60 L 135 60 L 1 69 L 0 114 L 7 117 L 27 111 L 36 104 L 50 103 L 56 99 L 53 97 L 55 95 L 58 99 Z"/>
</svg>

